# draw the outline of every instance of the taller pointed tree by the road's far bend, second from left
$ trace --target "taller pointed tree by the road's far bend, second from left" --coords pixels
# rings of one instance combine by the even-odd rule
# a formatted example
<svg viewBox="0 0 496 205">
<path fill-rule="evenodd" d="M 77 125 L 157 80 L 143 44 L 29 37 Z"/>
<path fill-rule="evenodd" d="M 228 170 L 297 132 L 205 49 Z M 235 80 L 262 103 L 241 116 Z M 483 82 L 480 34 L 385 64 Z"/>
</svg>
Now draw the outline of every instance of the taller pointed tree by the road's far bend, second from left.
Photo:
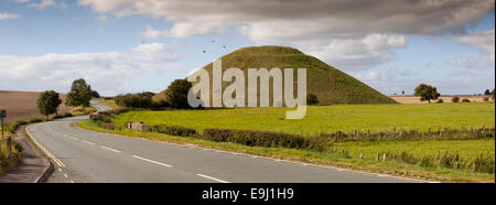
<svg viewBox="0 0 496 205">
<path fill-rule="evenodd" d="M 75 79 L 71 87 L 71 91 L 66 96 L 65 105 L 76 107 L 88 107 L 89 100 L 93 98 L 91 86 L 86 84 L 83 78 Z"/>
</svg>

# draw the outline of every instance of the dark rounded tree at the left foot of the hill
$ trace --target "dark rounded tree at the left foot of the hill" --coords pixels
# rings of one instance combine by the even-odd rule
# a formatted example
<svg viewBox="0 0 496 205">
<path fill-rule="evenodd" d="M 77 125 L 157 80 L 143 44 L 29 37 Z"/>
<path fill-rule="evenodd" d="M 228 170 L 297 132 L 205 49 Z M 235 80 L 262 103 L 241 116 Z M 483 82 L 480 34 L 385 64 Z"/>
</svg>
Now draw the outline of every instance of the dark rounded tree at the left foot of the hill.
<svg viewBox="0 0 496 205">
<path fill-rule="evenodd" d="M 190 108 L 187 91 L 193 87 L 186 79 L 175 79 L 165 90 L 165 101 L 173 108 Z"/>
</svg>

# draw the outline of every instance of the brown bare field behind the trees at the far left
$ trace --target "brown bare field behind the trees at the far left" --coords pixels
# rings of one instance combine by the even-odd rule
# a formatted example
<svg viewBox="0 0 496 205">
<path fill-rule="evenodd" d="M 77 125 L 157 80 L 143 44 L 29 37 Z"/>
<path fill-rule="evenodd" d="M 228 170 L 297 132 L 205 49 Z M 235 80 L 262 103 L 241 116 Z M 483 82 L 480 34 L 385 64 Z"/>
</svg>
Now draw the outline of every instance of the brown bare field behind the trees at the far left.
<svg viewBox="0 0 496 205">
<path fill-rule="evenodd" d="M 36 91 L 8 91 L 0 90 L 0 109 L 7 110 L 7 122 L 13 122 L 20 119 L 44 118 L 40 115 L 36 107 L 36 99 L 40 93 Z M 60 94 L 62 105 L 60 114 L 69 111 L 65 106 L 65 94 Z"/>
</svg>

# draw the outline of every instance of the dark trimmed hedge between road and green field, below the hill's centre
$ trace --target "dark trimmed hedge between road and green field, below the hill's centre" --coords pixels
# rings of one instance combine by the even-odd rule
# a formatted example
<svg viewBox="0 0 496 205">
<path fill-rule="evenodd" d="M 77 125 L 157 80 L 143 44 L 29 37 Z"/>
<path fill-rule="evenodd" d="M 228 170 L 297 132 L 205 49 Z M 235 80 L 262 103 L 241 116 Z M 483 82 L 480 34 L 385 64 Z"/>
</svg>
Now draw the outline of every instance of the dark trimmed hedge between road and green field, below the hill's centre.
<svg viewBox="0 0 496 205">
<path fill-rule="evenodd" d="M 290 148 L 313 151 L 324 151 L 327 143 L 322 138 L 305 138 L 292 133 L 231 130 L 231 129 L 205 129 L 203 138 L 217 142 L 233 142 L 250 147 Z"/>
</svg>

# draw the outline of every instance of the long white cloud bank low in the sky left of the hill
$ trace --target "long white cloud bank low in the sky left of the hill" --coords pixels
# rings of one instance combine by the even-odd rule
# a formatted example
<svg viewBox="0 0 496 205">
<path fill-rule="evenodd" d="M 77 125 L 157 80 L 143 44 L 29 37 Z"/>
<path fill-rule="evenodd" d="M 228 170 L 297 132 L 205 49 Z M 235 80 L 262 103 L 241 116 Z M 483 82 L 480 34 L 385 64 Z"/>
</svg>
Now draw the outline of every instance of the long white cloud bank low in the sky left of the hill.
<svg viewBox="0 0 496 205">
<path fill-rule="evenodd" d="M 85 78 L 104 95 L 133 89 L 132 82 L 147 74 L 175 68 L 177 55 L 171 46 L 141 44 L 127 52 L 0 55 L 0 87 L 17 90 L 67 91 L 76 78 Z"/>
</svg>

